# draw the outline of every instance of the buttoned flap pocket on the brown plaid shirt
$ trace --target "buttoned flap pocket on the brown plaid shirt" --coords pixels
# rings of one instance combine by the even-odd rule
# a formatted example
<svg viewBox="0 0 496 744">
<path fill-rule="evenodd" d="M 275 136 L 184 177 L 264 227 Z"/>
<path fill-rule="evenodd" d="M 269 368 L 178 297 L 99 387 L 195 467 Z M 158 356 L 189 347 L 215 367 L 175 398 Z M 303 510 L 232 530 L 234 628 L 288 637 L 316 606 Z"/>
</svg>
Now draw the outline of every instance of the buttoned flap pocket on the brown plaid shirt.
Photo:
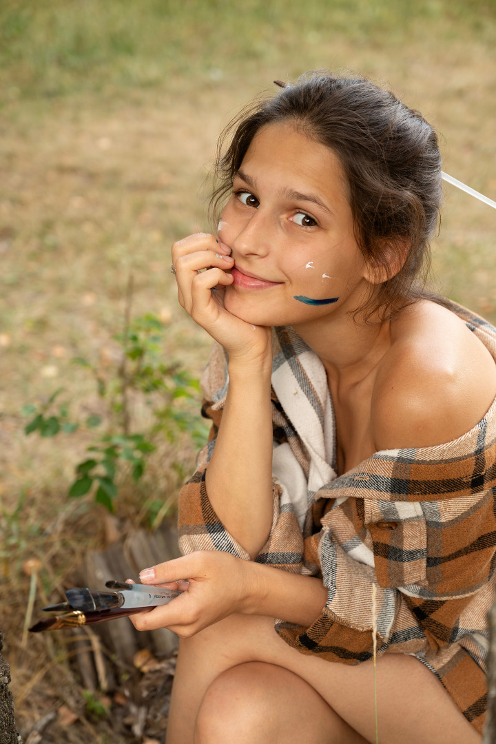
<svg viewBox="0 0 496 744">
<path fill-rule="evenodd" d="M 369 509 L 367 509 L 367 506 Z M 427 525 L 418 502 L 367 504 L 379 586 L 408 586 L 427 579 Z"/>
</svg>

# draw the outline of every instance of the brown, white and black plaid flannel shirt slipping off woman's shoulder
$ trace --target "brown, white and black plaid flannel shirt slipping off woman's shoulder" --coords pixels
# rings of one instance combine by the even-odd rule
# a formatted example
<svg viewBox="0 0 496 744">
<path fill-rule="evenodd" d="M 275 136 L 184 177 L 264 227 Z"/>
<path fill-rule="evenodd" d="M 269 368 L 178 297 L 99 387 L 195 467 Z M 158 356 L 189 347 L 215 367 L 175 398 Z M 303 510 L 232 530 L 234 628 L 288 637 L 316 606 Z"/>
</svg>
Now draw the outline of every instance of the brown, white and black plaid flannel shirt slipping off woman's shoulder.
<svg viewBox="0 0 496 744">
<path fill-rule="evenodd" d="M 496 362 L 496 330 L 453 304 Z M 183 553 L 248 554 L 219 521 L 204 474 L 228 388 L 215 344 L 202 378 L 213 421 L 193 478 L 179 497 Z M 378 651 L 419 658 L 482 731 L 486 711 L 487 612 L 495 596 L 496 400 L 462 437 L 419 449 L 376 452 L 337 476 L 326 373 L 289 327 L 274 329 L 272 373 L 274 516 L 255 559 L 322 577 L 328 599 L 309 627 L 276 620 L 292 647 L 359 664 Z M 242 435 L 242 432 L 240 432 Z"/>
</svg>

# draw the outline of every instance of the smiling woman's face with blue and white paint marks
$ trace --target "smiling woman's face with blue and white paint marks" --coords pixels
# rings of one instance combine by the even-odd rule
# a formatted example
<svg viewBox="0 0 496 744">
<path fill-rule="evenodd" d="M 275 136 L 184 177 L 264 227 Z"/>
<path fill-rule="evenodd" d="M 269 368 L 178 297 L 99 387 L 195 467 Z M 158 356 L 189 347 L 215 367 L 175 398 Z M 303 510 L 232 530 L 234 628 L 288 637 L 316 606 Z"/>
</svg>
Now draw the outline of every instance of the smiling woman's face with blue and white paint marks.
<svg viewBox="0 0 496 744">
<path fill-rule="evenodd" d="M 249 323 L 338 317 L 370 292 L 341 163 L 291 124 L 254 137 L 218 232 L 234 259 L 225 307 Z"/>
</svg>

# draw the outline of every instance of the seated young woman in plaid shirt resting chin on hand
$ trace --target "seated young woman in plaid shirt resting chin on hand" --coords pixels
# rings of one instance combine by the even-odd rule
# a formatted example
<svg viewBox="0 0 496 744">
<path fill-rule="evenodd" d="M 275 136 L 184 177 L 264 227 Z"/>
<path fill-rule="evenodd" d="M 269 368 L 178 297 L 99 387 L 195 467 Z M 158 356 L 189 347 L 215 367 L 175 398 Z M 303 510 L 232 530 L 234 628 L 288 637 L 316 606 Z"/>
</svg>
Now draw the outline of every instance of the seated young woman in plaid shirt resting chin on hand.
<svg viewBox="0 0 496 744">
<path fill-rule="evenodd" d="M 374 638 L 381 744 L 480 742 L 496 330 L 422 289 L 436 135 L 321 72 L 230 131 L 217 237 L 173 246 L 212 436 L 141 572 L 185 591 L 133 618 L 181 636 L 167 742 L 375 742 Z"/>
</svg>

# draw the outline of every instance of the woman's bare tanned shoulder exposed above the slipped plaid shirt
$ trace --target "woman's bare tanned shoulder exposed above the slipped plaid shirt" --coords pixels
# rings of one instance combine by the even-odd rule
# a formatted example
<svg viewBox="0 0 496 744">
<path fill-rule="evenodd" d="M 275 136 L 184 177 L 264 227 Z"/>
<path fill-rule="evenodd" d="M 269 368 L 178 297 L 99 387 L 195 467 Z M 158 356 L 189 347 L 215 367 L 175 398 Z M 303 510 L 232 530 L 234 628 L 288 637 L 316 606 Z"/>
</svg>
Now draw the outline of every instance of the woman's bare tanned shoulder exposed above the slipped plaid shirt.
<svg viewBox="0 0 496 744">
<path fill-rule="evenodd" d="M 376 376 L 376 449 L 428 447 L 470 431 L 496 398 L 496 362 L 466 324 L 421 301 L 391 324 Z"/>
</svg>

